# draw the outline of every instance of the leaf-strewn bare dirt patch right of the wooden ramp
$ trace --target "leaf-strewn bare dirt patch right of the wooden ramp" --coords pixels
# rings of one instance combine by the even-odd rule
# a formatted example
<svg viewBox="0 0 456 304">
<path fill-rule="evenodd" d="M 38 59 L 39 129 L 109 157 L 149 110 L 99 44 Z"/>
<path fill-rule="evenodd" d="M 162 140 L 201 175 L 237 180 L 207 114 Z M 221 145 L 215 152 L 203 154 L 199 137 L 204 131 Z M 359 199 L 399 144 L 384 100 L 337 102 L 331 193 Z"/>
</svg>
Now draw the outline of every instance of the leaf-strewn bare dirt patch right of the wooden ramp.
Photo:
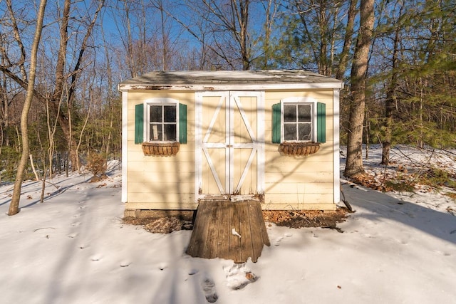
<svg viewBox="0 0 456 304">
<path fill-rule="evenodd" d="M 346 221 L 348 210 L 338 208 L 336 211 L 284 211 L 284 210 L 264 210 L 264 221 L 274 223 L 277 226 L 286 226 L 290 228 L 302 227 L 322 227 L 328 229 L 336 229 L 339 232 L 341 229 L 336 227 L 338 223 Z"/>
</svg>

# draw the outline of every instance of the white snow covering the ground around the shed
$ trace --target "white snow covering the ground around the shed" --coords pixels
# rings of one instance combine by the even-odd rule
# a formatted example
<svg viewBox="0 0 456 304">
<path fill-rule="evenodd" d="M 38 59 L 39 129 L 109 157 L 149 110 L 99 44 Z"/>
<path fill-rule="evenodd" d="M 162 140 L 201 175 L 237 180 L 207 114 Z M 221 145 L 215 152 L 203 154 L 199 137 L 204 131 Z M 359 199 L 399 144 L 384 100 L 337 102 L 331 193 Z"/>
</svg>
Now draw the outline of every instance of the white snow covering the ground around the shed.
<svg viewBox="0 0 456 304">
<path fill-rule="evenodd" d="M 432 154 L 392 153 L 410 169 Z M 378 147 L 370 154 L 366 168 L 383 174 Z M 431 161 L 455 170 L 452 157 Z M 343 233 L 268 224 L 259 261 L 234 264 L 187 256 L 191 231 L 123 224 L 118 166 L 108 176 L 56 177 L 43 204 L 41 183 L 25 182 L 15 216 L 6 215 L 12 185 L 0 187 L 0 303 L 455 303 L 456 217 L 447 209 L 456 203 L 437 191 L 382 193 L 343 179 L 356 210 L 338 225 Z"/>
</svg>

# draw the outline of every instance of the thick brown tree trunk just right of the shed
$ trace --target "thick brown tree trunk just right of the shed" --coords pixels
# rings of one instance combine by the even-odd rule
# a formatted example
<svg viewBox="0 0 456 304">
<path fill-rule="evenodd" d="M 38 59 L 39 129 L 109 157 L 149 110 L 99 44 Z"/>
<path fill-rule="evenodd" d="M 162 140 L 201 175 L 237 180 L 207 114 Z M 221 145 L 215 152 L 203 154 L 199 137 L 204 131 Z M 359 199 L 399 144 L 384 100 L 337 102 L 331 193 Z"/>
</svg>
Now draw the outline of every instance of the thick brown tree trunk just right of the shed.
<svg viewBox="0 0 456 304">
<path fill-rule="evenodd" d="M 363 122 L 366 108 L 366 72 L 373 36 L 373 6 L 374 0 L 361 0 L 360 28 L 351 68 L 351 104 L 348 118 L 347 160 L 344 172 L 346 177 L 356 177 L 365 173 L 363 167 Z"/>
</svg>

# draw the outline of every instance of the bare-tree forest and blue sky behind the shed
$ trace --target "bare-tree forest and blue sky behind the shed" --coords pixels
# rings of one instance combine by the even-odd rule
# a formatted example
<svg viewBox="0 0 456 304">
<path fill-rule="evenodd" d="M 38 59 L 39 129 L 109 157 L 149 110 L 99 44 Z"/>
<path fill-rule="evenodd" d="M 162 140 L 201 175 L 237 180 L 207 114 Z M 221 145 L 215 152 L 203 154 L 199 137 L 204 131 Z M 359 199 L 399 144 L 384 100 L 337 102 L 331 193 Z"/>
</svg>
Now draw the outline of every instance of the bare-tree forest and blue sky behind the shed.
<svg viewBox="0 0 456 304">
<path fill-rule="evenodd" d="M 24 148 L 39 2 L 0 0 L 0 182 L 14 180 Z M 341 144 L 356 141 L 358 161 L 361 143 L 383 145 L 383 164 L 395 143 L 456 145 L 454 0 L 49 0 L 40 30 L 25 177 L 43 183 L 120 158 L 117 84 L 152 70 L 304 69 L 344 80 Z M 346 170 L 360 172 L 362 161 Z"/>
</svg>

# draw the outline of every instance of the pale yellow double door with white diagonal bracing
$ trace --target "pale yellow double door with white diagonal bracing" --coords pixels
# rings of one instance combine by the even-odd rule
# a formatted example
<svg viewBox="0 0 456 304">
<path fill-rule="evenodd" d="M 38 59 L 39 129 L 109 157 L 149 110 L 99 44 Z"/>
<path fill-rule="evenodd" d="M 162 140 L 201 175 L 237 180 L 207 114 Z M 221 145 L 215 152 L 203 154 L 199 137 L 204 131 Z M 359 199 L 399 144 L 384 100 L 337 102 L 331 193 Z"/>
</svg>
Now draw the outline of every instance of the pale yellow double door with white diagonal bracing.
<svg viewBox="0 0 456 304">
<path fill-rule="evenodd" d="M 196 94 L 197 199 L 264 193 L 264 93 Z"/>
</svg>

